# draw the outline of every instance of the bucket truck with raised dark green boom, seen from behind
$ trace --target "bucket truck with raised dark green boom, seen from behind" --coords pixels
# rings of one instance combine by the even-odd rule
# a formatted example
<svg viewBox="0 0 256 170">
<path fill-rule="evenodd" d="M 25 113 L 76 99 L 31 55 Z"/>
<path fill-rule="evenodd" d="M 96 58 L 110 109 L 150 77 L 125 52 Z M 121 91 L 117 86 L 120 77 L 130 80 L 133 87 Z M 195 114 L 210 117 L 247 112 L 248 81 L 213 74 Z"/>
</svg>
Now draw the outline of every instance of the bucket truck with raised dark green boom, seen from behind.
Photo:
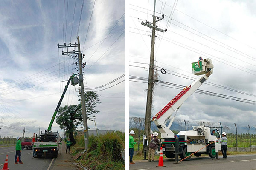
<svg viewBox="0 0 256 170">
<path fill-rule="evenodd" d="M 55 158 L 57 158 L 58 156 L 58 150 L 59 150 L 59 144 L 61 144 L 61 138 L 58 131 L 52 132 L 52 124 L 55 120 L 56 114 L 64 98 L 64 95 L 67 91 L 68 85 L 70 84 L 70 81 L 73 86 L 78 84 L 78 78 L 75 77 L 75 75 L 76 74 L 73 74 L 72 76 L 70 76 L 67 82 L 67 85 L 65 86 L 64 91 L 61 95 L 61 99 L 59 100 L 58 105 L 53 113 L 48 129 L 45 130 L 44 133 L 41 132 L 41 134 L 39 134 L 38 136 L 38 139 L 36 139 L 37 142 L 34 143 L 35 155 L 37 157 L 41 157 L 42 155 L 48 155 L 48 154 L 52 154 L 52 157 L 55 157 Z"/>
</svg>

